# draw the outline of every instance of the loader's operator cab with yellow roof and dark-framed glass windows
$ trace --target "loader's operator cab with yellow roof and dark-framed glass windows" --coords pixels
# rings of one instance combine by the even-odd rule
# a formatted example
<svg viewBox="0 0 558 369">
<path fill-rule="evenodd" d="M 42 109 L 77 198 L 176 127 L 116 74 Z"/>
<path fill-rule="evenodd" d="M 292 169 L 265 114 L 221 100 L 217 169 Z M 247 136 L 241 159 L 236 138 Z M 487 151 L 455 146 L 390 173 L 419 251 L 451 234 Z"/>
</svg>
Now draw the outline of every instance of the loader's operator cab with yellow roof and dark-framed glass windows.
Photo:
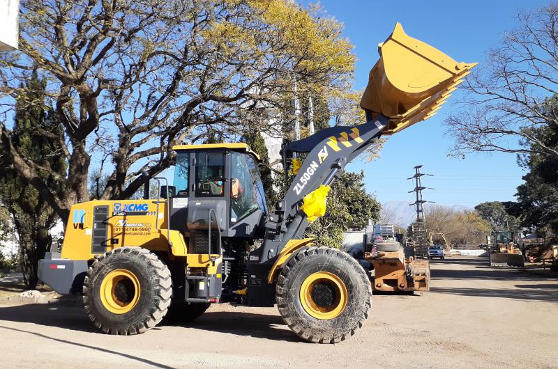
<svg viewBox="0 0 558 369">
<path fill-rule="evenodd" d="M 176 164 L 169 187 L 171 229 L 190 233 L 194 241 L 195 233 L 203 237 L 210 225 L 211 229 L 219 228 L 221 237 L 261 236 L 268 208 L 259 176 L 259 156 L 246 143 L 181 145 L 173 149 Z"/>
</svg>

